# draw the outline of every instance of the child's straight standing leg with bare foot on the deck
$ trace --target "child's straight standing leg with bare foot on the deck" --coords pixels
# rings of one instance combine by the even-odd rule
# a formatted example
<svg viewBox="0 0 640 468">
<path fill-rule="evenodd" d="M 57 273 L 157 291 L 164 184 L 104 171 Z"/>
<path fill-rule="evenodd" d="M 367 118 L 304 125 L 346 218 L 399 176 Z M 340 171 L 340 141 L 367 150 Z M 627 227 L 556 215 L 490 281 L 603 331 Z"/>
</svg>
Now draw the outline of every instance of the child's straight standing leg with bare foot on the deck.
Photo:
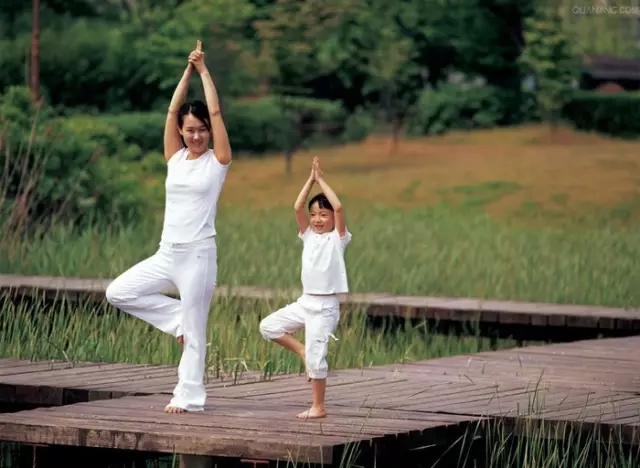
<svg viewBox="0 0 640 468">
<path fill-rule="evenodd" d="M 327 352 L 329 340 L 338 325 L 340 309 L 324 311 L 322 315 L 311 315 L 306 323 L 306 362 L 312 379 L 313 405 L 298 414 L 298 418 L 314 419 L 327 415 L 324 397 L 327 387 Z"/>
</svg>

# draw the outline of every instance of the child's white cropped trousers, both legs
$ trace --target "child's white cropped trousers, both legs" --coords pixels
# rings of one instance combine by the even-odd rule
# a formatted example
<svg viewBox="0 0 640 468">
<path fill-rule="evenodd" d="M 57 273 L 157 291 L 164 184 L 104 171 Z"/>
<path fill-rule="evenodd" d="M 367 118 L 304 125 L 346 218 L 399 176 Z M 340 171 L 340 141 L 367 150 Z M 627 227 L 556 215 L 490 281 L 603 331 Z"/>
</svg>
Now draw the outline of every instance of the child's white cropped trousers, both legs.
<svg viewBox="0 0 640 468">
<path fill-rule="evenodd" d="M 329 366 L 329 338 L 334 338 L 340 320 L 338 296 L 303 294 L 295 302 L 268 315 L 260 322 L 260 333 L 267 340 L 280 338 L 304 327 L 307 373 L 312 379 L 325 379 Z"/>
</svg>

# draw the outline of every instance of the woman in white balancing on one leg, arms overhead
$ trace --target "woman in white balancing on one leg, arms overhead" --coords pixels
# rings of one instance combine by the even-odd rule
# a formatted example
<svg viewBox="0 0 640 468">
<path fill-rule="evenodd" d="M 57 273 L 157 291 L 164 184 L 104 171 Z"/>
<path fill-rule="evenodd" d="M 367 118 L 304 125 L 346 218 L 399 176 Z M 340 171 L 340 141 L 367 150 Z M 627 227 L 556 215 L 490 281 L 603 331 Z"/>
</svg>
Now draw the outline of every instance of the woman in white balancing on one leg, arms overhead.
<svg viewBox="0 0 640 468">
<path fill-rule="evenodd" d="M 167 160 L 164 225 L 158 251 L 116 278 L 109 303 L 178 338 L 183 344 L 178 384 L 166 412 L 203 411 L 207 318 L 217 281 L 215 218 L 231 163 L 229 137 L 202 44 L 189 55 L 164 128 Z M 193 70 L 206 104 L 182 103 Z M 209 141 L 213 135 L 213 150 Z M 177 287 L 180 300 L 164 294 Z"/>
</svg>

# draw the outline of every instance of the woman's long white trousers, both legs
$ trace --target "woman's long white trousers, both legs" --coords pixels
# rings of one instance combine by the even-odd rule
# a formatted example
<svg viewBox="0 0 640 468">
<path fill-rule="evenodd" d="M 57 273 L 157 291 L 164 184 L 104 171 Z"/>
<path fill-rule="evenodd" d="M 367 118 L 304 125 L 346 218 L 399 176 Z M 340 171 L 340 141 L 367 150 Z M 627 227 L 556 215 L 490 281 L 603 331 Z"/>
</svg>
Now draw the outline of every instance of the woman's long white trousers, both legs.
<svg viewBox="0 0 640 468">
<path fill-rule="evenodd" d="M 122 273 L 108 287 L 107 301 L 172 336 L 184 349 L 178 384 L 169 405 L 202 411 L 207 319 L 217 281 L 215 237 L 190 244 L 161 243 L 158 251 Z M 161 294 L 171 286 L 180 299 Z"/>
</svg>

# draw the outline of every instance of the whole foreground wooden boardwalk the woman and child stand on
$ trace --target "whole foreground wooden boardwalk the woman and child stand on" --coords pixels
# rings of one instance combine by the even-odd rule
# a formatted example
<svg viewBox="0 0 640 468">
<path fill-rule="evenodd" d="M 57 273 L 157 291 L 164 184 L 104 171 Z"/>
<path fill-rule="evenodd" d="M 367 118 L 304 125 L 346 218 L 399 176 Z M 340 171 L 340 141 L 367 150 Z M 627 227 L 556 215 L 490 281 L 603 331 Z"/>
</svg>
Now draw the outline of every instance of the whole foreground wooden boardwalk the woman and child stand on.
<svg viewBox="0 0 640 468">
<path fill-rule="evenodd" d="M 640 337 L 615 338 L 334 371 L 330 414 L 317 421 L 294 417 L 311 397 L 298 375 L 218 379 L 203 413 L 167 415 L 169 367 L 2 360 L 0 399 L 15 398 L 11 386 L 87 393 L 3 414 L 0 440 L 338 465 L 354 443 L 410 450 L 452 443 L 482 421 L 537 421 L 640 445 L 639 348 Z"/>
</svg>

